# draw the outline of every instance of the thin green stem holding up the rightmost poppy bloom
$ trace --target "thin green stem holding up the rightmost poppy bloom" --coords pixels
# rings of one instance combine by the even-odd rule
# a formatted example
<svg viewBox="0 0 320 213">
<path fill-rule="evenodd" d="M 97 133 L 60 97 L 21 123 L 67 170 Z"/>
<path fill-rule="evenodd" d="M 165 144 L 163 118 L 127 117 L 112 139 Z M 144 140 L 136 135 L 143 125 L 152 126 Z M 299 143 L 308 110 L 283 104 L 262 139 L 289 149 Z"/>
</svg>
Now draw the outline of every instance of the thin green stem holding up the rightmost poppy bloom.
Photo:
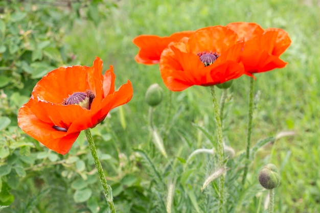
<svg viewBox="0 0 320 213">
<path fill-rule="evenodd" d="M 250 78 L 250 88 L 249 88 L 249 110 L 248 110 L 248 129 L 247 129 L 247 144 L 246 144 L 246 161 L 243 170 L 242 185 L 244 185 L 249 166 L 250 158 L 250 140 L 252 132 L 252 117 L 254 112 L 254 78 Z"/>
</svg>

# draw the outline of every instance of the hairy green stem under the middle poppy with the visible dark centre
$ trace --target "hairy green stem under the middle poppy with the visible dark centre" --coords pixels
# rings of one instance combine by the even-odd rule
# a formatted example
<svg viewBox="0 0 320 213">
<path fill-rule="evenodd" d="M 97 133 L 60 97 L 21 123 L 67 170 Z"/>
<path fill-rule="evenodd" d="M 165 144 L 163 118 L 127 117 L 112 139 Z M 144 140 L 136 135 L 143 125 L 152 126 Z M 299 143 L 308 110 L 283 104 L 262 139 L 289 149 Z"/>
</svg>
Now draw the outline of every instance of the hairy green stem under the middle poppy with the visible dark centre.
<svg viewBox="0 0 320 213">
<path fill-rule="evenodd" d="M 222 137 L 222 125 L 220 120 L 220 113 L 219 113 L 219 105 L 216 97 L 216 92 L 214 86 L 210 86 L 211 89 L 211 96 L 213 101 L 213 107 L 215 111 L 216 117 L 216 126 L 217 126 L 217 134 L 218 134 L 218 145 L 217 145 L 217 153 L 218 153 L 218 166 L 224 167 L 223 163 L 223 137 Z M 219 179 L 219 205 L 218 205 L 218 212 L 223 211 L 223 203 L 224 203 L 224 176 L 222 175 Z"/>
</svg>

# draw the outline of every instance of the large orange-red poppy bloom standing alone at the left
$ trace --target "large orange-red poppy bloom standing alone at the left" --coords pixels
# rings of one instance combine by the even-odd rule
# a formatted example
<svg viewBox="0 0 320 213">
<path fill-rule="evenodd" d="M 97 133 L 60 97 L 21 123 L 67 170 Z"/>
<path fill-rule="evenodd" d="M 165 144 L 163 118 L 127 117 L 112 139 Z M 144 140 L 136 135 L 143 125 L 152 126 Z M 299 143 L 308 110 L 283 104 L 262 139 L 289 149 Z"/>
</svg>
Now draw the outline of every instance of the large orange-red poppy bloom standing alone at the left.
<svg viewBox="0 0 320 213">
<path fill-rule="evenodd" d="M 115 91 L 113 67 L 102 73 L 102 60 L 92 67 L 59 67 L 34 87 L 18 113 L 18 126 L 44 146 L 66 154 L 81 130 L 102 122 L 108 112 L 130 101 L 131 82 Z"/>
</svg>

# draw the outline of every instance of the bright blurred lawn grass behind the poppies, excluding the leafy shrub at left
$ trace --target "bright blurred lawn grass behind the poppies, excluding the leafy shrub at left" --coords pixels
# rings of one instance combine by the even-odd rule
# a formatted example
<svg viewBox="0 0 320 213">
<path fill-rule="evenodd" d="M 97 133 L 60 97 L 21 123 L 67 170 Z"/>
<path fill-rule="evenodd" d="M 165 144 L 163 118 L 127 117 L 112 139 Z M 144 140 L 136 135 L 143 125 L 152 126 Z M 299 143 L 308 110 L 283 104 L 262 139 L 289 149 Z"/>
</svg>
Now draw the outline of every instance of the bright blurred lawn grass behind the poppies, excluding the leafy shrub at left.
<svg viewBox="0 0 320 213">
<path fill-rule="evenodd" d="M 257 182 L 256 174 L 263 164 L 272 162 L 281 171 L 281 184 L 276 190 L 276 212 L 318 212 L 320 209 L 320 146 L 318 146 L 320 118 L 320 8 L 316 1 L 309 6 L 304 1 L 120 1 L 106 20 L 95 28 L 90 23 L 77 23 L 65 40 L 81 64 L 92 64 L 95 56 L 103 59 L 105 67 L 115 66 L 117 85 L 127 79 L 133 84 L 132 101 L 125 106 L 127 129 L 123 131 L 117 117 L 110 121 L 118 135 L 121 149 L 126 146 L 148 146 L 141 126 L 147 124 L 147 105 L 144 94 L 152 83 L 159 83 L 165 91 L 161 106 L 156 108 L 155 123 L 162 126 L 166 117 L 169 91 L 164 86 L 158 65 L 145 66 L 134 61 L 138 52 L 131 40 L 140 34 L 170 35 L 182 30 L 226 25 L 233 21 L 257 22 L 263 28 L 285 29 L 292 44 L 283 54 L 288 61 L 283 69 L 256 75 L 255 91 L 260 101 L 254 115 L 253 143 L 259 138 L 281 131 L 295 131 L 295 136 L 282 138 L 266 146 L 250 168 L 249 178 Z M 105 68 L 106 69 L 106 68 Z M 227 105 L 224 135 L 236 152 L 245 147 L 248 81 L 241 77 L 234 82 L 233 100 Z M 207 97 L 207 98 L 206 98 Z M 165 144 L 171 156 L 177 156 L 186 146 L 178 132 L 201 146 L 210 146 L 192 122 L 204 123 L 214 130 L 214 116 L 209 88 L 191 87 L 173 93 L 173 112 L 177 115 Z M 180 110 L 179 110 L 180 109 Z M 193 146 L 195 148 L 196 146 Z M 208 147 L 209 148 L 209 147 Z M 192 151 L 181 153 L 186 158 Z M 128 152 L 132 152 L 130 149 Z M 272 152 L 272 155 L 270 153 Z M 161 161 L 160 159 L 156 159 Z M 204 166 L 205 167 L 205 166 Z M 256 172 L 256 173 L 255 173 Z"/>
</svg>

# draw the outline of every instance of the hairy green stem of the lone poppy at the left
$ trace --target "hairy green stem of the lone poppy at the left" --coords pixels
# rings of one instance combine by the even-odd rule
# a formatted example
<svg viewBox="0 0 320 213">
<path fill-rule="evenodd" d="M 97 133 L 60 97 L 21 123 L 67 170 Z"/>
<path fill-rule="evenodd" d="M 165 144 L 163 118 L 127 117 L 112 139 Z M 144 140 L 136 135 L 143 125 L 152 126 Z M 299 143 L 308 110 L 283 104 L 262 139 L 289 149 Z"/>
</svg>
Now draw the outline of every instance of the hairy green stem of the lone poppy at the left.
<svg viewBox="0 0 320 213">
<path fill-rule="evenodd" d="M 92 154 L 92 157 L 94 158 L 94 162 L 98 171 L 98 175 L 101 181 L 101 185 L 103 187 L 103 191 L 104 191 L 104 197 L 106 198 L 106 201 L 108 203 L 108 206 L 110 208 L 110 212 L 111 213 L 116 213 L 116 209 L 115 209 L 115 204 L 113 204 L 113 199 L 112 199 L 112 188 L 111 186 L 108 185 L 107 180 L 105 178 L 100 160 L 98 158 L 98 154 L 97 154 L 97 150 L 96 150 L 96 146 L 94 143 L 94 138 L 91 135 L 90 129 L 86 129 L 84 130 L 85 135 L 87 137 L 88 140 L 88 144 L 89 144 L 89 148 Z"/>
</svg>

